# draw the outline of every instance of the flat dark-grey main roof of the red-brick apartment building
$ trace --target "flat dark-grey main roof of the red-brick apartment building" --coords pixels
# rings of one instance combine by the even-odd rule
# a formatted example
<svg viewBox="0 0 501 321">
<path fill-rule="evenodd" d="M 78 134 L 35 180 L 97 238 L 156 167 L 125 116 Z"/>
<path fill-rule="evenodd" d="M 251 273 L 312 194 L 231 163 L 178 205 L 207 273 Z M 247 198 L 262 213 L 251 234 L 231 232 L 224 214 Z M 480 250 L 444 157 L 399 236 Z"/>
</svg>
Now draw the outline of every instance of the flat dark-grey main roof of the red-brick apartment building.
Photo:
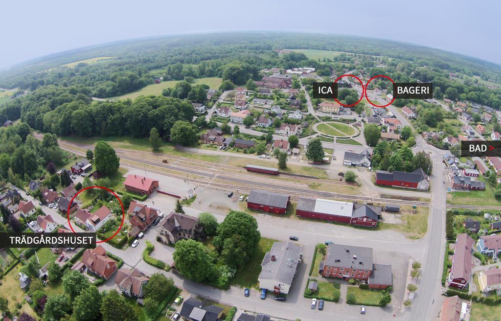
<svg viewBox="0 0 501 321">
<path fill-rule="evenodd" d="M 331 244 L 327 247 L 325 266 L 372 269 L 374 263 L 372 248 Z"/>
</svg>

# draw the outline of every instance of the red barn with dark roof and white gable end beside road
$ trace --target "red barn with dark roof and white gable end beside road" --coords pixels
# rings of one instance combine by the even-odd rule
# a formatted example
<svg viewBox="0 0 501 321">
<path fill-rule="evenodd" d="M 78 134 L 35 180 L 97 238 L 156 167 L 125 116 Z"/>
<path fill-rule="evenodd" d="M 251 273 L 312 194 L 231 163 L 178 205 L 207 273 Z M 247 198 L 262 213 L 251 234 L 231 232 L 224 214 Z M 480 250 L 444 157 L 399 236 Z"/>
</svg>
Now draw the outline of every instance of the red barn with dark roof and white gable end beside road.
<svg viewBox="0 0 501 321">
<path fill-rule="evenodd" d="M 426 179 L 426 174 L 421 168 L 412 173 L 399 171 L 376 171 L 376 184 L 394 187 L 414 188 L 428 190 L 430 184 Z"/>
</svg>

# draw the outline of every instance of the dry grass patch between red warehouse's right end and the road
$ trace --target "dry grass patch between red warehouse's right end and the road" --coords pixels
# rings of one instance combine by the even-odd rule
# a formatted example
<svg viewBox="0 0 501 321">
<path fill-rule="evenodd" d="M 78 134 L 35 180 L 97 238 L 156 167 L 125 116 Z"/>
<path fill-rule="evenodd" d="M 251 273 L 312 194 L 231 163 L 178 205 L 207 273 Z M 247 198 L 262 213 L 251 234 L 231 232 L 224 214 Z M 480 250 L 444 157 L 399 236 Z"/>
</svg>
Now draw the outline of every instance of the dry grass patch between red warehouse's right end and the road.
<svg viewBox="0 0 501 321">
<path fill-rule="evenodd" d="M 403 224 L 379 222 L 376 229 L 392 229 L 403 233 L 410 239 L 419 239 L 423 237 L 428 230 L 429 209 L 424 206 L 418 206 L 416 209 L 417 213 L 406 212 L 406 210 L 412 210 L 412 206 L 403 205 L 400 207 L 400 214 L 403 215 Z"/>
</svg>

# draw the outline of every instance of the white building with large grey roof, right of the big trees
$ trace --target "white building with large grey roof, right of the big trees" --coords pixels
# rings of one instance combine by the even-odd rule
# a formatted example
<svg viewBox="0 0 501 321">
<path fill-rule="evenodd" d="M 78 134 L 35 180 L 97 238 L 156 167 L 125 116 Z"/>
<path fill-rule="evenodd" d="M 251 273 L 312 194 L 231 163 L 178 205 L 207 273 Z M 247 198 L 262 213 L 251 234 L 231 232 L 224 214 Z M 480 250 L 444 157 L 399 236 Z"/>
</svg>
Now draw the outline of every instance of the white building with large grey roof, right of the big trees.
<svg viewBox="0 0 501 321">
<path fill-rule="evenodd" d="M 293 242 L 274 242 L 261 262 L 259 287 L 275 294 L 288 294 L 302 252 L 303 247 Z"/>
</svg>

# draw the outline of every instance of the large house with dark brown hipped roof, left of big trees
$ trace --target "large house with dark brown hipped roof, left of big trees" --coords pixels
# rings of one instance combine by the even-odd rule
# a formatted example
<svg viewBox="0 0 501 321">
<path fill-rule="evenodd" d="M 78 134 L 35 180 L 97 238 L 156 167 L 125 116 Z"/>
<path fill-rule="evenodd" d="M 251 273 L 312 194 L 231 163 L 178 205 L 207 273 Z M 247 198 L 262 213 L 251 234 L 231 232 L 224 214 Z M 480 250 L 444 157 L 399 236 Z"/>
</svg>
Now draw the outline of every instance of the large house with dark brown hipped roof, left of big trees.
<svg viewBox="0 0 501 321">
<path fill-rule="evenodd" d="M 198 224 L 198 218 L 170 212 L 160 221 L 156 228 L 157 237 L 163 243 L 174 244 L 181 239 L 201 239 L 205 237 L 203 227 Z"/>
</svg>

